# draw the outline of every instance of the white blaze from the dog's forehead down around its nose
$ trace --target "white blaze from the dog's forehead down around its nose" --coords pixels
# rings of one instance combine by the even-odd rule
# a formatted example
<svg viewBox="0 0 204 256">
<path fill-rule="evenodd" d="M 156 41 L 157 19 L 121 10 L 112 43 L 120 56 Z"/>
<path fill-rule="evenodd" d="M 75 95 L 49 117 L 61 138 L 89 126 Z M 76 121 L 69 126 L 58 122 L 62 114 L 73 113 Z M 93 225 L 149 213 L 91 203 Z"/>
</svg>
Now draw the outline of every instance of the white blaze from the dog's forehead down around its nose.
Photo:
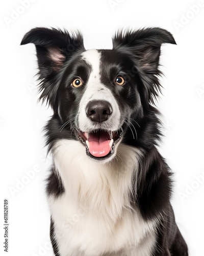
<svg viewBox="0 0 204 256">
<path fill-rule="evenodd" d="M 86 106 L 89 101 L 106 100 L 112 106 L 112 115 L 106 121 L 108 130 L 116 131 L 120 128 L 120 112 L 118 104 L 113 96 L 112 91 L 100 81 L 100 57 L 101 53 L 97 50 L 87 50 L 82 53 L 83 59 L 91 66 L 92 70 L 86 84 L 86 91 L 80 101 L 80 108 L 78 113 L 79 128 L 81 131 L 91 131 L 99 129 L 94 126 L 91 120 L 86 115 Z M 105 127 L 104 127 L 105 128 Z"/>
</svg>

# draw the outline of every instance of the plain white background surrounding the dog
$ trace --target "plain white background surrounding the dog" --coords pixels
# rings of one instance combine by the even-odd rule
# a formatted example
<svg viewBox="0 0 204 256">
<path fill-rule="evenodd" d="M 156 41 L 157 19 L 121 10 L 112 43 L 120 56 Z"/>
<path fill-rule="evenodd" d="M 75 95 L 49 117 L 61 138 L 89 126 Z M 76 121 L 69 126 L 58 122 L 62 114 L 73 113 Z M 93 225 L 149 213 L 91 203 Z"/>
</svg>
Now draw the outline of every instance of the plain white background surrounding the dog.
<svg viewBox="0 0 204 256">
<path fill-rule="evenodd" d="M 165 138 L 160 152 L 174 172 L 176 222 L 190 255 L 203 256 L 204 3 L 196 7 L 201 5 L 198 0 L 23 1 L 26 8 L 19 0 L 1 2 L 0 254 L 53 255 L 44 189 L 50 158 L 45 159 L 42 133 L 52 111 L 37 104 L 35 47 L 20 46 L 23 35 L 43 26 L 79 29 L 86 49 L 110 49 L 119 28 L 157 26 L 170 31 L 177 42 L 162 46 L 165 77 L 158 107 Z M 29 170 L 35 170 L 31 178 Z M 3 250 L 5 198 L 10 210 L 9 253 Z"/>
</svg>

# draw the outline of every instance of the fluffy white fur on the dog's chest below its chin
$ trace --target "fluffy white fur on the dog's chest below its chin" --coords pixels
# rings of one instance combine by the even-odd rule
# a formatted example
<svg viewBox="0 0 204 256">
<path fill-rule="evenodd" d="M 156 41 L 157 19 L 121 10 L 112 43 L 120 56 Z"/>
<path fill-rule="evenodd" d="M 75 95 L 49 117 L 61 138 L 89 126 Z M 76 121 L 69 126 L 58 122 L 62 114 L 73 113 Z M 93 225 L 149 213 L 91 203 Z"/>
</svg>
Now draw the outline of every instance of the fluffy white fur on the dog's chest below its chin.
<svg viewBox="0 0 204 256">
<path fill-rule="evenodd" d="M 65 193 L 48 198 L 61 256 L 148 256 L 155 224 L 132 209 L 129 195 L 141 152 L 120 144 L 111 164 L 93 162 L 79 141 L 56 143 L 54 164 Z"/>
</svg>

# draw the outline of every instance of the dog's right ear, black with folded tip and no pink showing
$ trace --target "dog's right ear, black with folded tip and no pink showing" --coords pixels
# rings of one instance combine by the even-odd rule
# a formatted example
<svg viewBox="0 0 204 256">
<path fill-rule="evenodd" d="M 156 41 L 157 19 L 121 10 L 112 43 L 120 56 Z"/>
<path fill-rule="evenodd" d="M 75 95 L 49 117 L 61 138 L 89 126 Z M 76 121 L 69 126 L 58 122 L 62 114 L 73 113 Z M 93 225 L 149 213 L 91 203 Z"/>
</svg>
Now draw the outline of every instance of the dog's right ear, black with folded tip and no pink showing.
<svg viewBox="0 0 204 256">
<path fill-rule="evenodd" d="M 144 86 L 144 97 L 154 103 L 160 91 L 158 76 L 161 45 L 176 44 L 173 36 L 161 28 L 147 28 L 138 31 L 119 31 L 113 38 L 113 49 L 125 51 L 134 60 L 135 68 Z M 134 74 L 133 74 L 134 75 Z"/>
</svg>

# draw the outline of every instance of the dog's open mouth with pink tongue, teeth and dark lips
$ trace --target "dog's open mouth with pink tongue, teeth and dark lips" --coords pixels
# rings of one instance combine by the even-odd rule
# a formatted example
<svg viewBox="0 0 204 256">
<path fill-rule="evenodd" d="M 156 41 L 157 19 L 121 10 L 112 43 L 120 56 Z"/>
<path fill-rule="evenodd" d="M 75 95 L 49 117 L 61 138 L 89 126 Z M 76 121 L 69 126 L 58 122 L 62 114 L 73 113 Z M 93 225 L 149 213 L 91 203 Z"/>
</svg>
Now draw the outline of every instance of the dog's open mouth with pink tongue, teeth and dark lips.
<svg viewBox="0 0 204 256">
<path fill-rule="evenodd" d="M 86 146 L 89 157 L 104 160 L 115 152 L 115 144 L 122 137 L 122 128 L 116 132 L 96 130 L 92 132 L 81 132 L 77 130 L 80 141 Z"/>
</svg>

